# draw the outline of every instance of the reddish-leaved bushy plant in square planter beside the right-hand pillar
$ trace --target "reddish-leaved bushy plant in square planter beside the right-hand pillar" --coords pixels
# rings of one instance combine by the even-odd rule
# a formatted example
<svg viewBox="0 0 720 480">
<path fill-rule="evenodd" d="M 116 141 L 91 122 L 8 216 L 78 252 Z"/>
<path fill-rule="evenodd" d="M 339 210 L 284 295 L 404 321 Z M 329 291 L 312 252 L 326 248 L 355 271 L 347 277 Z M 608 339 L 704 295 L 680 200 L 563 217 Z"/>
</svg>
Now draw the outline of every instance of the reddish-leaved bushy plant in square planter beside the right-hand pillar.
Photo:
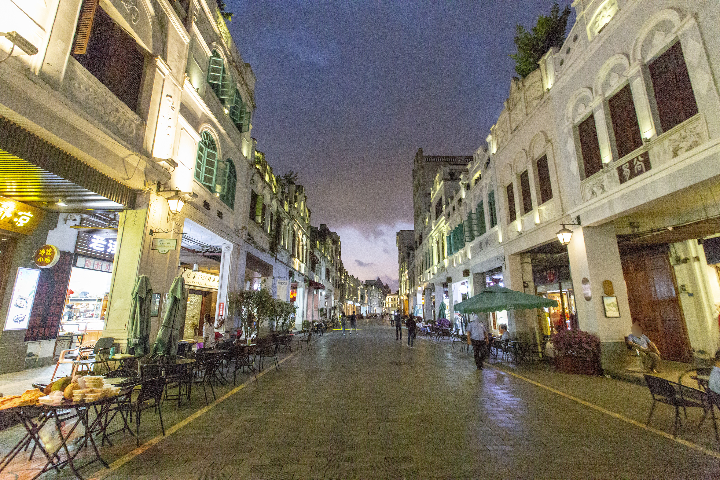
<svg viewBox="0 0 720 480">
<path fill-rule="evenodd" d="M 565 373 L 600 375 L 600 339 L 582 330 L 561 330 L 552 335 L 555 368 Z"/>
</svg>

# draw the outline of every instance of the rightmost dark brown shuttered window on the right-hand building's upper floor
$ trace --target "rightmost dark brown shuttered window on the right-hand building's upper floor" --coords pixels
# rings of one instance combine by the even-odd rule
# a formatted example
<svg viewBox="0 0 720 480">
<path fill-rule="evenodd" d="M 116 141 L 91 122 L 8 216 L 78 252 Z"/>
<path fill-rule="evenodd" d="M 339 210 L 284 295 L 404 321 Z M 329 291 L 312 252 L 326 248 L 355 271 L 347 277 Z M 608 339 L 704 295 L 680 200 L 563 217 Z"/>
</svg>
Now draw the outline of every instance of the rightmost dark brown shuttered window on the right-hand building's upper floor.
<svg viewBox="0 0 720 480">
<path fill-rule="evenodd" d="M 680 42 L 651 63 L 649 71 L 663 132 L 698 113 Z"/>
</svg>

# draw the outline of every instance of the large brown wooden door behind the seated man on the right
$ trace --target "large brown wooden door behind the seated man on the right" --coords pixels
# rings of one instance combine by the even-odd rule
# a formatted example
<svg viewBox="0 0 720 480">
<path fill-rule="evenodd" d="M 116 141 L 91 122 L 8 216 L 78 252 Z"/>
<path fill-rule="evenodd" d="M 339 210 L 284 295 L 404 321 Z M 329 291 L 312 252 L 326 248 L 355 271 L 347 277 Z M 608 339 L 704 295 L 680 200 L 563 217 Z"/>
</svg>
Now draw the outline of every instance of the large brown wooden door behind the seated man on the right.
<svg viewBox="0 0 720 480">
<path fill-rule="evenodd" d="M 667 245 L 623 255 L 623 274 L 633 322 L 667 360 L 690 362 L 690 340 L 678 302 Z"/>
</svg>

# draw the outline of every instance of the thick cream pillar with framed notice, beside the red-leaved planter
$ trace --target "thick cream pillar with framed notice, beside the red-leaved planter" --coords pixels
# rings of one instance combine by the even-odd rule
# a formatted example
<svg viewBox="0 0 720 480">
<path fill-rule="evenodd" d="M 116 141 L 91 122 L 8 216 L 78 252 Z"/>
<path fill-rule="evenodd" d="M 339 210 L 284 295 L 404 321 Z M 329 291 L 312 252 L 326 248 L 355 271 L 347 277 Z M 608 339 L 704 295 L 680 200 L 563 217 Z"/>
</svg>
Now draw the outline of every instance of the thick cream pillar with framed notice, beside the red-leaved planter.
<svg viewBox="0 0 720 480">
<path fill-rule="evenodd" d="M 624 368 L 627 355 L 624 337 L 630 332 L 632 320 L 618 240 L 615 236 L 615 225 L 608 222 L 599 227 L 575 227 L 567 251 L 570 254 L 572 288 L 575 290 L 575 306 L 580 330 L 600 337 L 602 342 L 600 361 L 604 369 Z M 590 282 L 589 300 L 585 299 L 583 294 L 583 279 L 588 279 Z M 617 297 L 620 317 L 605 316 L 603 309 L 605 280 L 613 284 L 613 295 Z"/>
</svg>

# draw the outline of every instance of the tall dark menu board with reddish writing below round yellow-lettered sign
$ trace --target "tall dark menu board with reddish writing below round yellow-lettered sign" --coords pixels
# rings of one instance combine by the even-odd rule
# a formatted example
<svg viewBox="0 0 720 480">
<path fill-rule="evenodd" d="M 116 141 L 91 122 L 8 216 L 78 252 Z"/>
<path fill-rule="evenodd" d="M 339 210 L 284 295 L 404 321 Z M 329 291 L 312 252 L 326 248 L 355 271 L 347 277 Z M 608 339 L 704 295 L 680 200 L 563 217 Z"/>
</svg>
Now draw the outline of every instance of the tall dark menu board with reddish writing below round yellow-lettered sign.
<svg viewBox="0 0 720 480">
<path fill-rule="evenodd" d="M 58 337 L 72 268 L 73 254 L 60 252 L 60 260 L 55 266 L 40 271 L 35 290 L 36 301 L 32 304 L 24 341 L 55 340 Z"/>
</svg>

